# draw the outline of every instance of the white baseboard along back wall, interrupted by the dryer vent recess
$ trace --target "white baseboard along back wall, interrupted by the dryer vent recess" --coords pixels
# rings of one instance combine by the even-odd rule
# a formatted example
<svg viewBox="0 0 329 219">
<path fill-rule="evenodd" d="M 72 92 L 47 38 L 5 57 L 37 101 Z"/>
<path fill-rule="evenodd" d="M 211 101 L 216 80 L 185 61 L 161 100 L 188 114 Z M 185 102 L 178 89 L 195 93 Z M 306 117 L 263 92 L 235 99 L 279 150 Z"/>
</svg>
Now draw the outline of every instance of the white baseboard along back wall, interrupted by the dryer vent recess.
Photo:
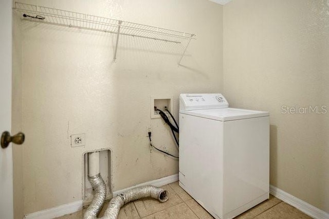
<svg viewBox="0 0 329 219">
<path fill-rule="evenodd" d="M 135 188 L 135 187 L 139 187 L 139 186 L 147 186 L 147 185 L 152 185 L 152 186 L 164 186 L 167 184 L 170 184 L 172 182 L 178 181 L 178 174 L 174 174 L 171 176 L 167 176 L 167 177 L 163 177 L 160 179 L 156 179 L 156 180 L 152 180 L 152 181 L 148 181 L 148 182 L 144 182 L 142 184 L 130 187 L 130 188 L 126 188 L 126 189 L 121 189 L 118 191 L 113 192 L 113 196 L 123 193 L 129 189 Z M 63 216 L 65 214 L 70 214 L 70 213 L 74 213 L 77 211 L 80 211 L 82 209 L 82 200 L 79 200 L 77 202 L 72 202 L 72 203 L 68 203 L 65 205 L 60 205 L 54 208 L 49 208 L 49 209 L 45 209 L 42 211 L 37 211 L 31 214 L 26 214 L 24 216 L 25 219 L 52 219 L 54 217 L 60 217 Z"/>
</svg>

